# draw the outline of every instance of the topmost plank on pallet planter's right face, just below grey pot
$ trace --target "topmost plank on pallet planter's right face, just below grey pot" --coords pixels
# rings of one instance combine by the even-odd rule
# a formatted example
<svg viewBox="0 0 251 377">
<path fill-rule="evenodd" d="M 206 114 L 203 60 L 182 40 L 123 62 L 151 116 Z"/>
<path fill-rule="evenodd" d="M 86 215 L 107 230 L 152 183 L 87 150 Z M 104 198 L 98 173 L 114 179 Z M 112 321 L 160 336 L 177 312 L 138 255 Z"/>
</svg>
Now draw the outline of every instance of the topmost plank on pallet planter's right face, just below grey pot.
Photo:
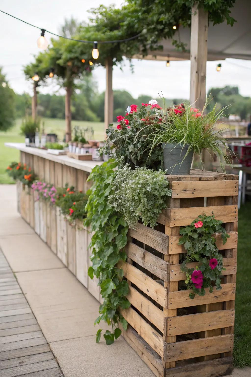
<svg viewBox="0 0 251 377">
<path fill-rule="evenodd" d="M 238 195 L 239 181 L 173 181 L 172 198 L 204 198 L 204 196 Z"/>
</svg>

